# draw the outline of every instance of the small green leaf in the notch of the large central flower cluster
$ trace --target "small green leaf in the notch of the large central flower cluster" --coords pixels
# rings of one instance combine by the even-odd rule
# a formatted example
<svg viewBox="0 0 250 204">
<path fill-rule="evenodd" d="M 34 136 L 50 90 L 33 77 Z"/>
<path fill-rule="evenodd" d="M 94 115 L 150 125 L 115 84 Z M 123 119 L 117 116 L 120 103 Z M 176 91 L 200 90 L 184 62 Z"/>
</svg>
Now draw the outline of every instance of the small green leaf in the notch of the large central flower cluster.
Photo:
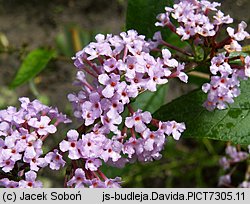
<svg viewBox="0 0 250 204">
<path fill-rule="evenodd" d="M 166 101 L 167 85 L 162 85 L 157 88 L 156 92 L 146 91 L 139 95 L 136 101 L 132 104 L 135 110 L 142 109 L 151 113 L 155 112 Z"/>
</svg>

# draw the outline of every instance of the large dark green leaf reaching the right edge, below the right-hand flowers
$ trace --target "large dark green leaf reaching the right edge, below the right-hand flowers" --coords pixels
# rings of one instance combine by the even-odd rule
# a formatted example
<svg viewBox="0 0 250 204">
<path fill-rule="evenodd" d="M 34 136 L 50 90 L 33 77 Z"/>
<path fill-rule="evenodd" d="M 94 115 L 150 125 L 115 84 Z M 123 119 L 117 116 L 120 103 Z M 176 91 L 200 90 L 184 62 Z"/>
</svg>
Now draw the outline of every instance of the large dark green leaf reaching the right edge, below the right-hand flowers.
<svg viewBox="0 0 250 204">
<path fill-rule="evenodd" d="M 207 111 L 206 94 L 193 91 L 162 106 L 154 117 L 162 121 L 185 122 L 183 137 L 209 138 L 250 144 L 250 81 L 241 82 L 241 94 L 226 110 Z"/>
</svg>

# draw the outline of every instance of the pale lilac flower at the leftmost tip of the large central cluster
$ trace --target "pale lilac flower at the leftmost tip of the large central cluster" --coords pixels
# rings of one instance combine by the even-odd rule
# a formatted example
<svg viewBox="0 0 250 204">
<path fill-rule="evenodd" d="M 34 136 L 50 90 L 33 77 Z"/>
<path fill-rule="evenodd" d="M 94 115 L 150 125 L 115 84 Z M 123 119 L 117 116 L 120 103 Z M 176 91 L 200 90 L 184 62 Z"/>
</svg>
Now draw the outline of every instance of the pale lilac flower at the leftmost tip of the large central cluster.
<svg viewBox="0 0 250 204">
<path fill-rule="evenodd" d="M 62 152 L 69 151 L 70 159 L 79 159 L 81 156 L 79 154 L 77 143 L 78 143 L 79 133 L 76 130 L 69 130 L 67 132 L 68 141 L 63 140 L 59 144 L 59 148 Z"/>
</svg>

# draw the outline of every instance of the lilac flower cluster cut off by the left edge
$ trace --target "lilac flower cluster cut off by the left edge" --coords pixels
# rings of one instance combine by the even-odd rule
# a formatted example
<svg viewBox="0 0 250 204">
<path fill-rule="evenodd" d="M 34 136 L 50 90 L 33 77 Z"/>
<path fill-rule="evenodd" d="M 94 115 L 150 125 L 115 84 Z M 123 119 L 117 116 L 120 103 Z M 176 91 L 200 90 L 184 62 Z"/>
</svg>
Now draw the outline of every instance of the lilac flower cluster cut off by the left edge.
<svg viewBox="0 0 250 204">
<path fill-rule="evenodd" d="M 49 155 L 45 158 L 42 156 L 43 141 L 57 131 L 60 123 L 68 123 L 70 120 L 57 109 L 43 105 L 38 100 L 31 102 L 25 97 L 19 100 L 19 110 L 8 107 L 0 111 L 0 167 L 6 175 L 15 168 L 18 177 L 24 175 L 25 169 L 30 169 L 25 174 L 28 182 L 33 181 L 35 172 L 49 162 Z M 24 187 L 26 181 L 19 181 L 18 185 Z M 8 179 L 1 183 L 4 186 L 17 184 Z"/>
</svg>

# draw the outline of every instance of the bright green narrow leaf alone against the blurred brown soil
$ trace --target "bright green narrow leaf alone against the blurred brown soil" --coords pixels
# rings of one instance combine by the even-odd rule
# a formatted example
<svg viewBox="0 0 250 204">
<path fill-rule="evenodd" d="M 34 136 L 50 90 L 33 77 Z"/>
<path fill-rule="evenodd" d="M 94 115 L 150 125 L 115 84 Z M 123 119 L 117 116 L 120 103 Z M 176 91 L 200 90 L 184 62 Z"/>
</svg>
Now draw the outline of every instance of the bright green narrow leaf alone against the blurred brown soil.
<svg viewBox="0 0 250 204">
<path fill-rule="evenodd" d="M 10 88 L 16 88 L 35 77 L 54 56 L 53 50 L 36 49 L 31 51 L 23 60 Z"/>
</svg>

